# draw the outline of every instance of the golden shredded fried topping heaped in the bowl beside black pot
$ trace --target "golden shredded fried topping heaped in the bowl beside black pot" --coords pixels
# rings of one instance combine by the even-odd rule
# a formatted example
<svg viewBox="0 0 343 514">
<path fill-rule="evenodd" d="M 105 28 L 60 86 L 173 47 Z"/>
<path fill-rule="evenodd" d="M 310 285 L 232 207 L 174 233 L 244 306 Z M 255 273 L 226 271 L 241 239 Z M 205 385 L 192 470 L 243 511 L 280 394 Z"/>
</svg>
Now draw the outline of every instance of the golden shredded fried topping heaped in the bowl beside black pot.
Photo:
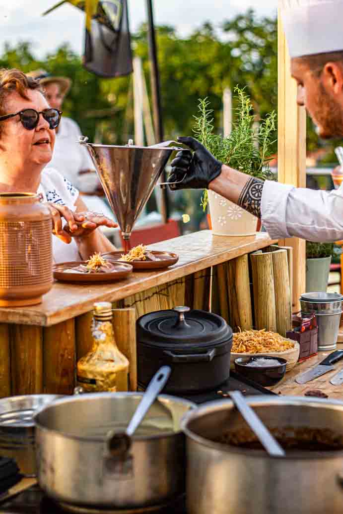
<svg viewBox="0 0 343 514">
<path fill-rule="evenodd" d="M 245 330 L 233 335 L 233 353 L 285 352 L 294 348 L 294 343 L 285 340 L 280 334 L 263 330 Z"/>
</svg>

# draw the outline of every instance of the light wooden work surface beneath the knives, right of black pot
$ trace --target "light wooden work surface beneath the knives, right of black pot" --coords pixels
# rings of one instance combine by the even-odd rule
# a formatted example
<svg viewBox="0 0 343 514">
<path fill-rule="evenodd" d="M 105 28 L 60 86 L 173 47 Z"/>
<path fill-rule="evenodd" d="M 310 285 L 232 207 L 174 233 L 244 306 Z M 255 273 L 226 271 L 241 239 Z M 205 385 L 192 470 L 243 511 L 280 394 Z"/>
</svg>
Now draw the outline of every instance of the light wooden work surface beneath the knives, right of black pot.
<svg viewBox="0 0 343 514">
<path fill-rule="evenodd" d="M 337 344 L 337 350 L 343 350 L 343 344 Z M 343 359 L 334 364 L 334 371 L 329 371 L 321 377 L 318 377 L 305 384 L 298 384 L 295 378 L 300 373 L 314 368 L 319 362 L 325 359 L 331 352 L 318 352 L 314 357 L 298 362 L 293 369 L 286 373 L 285 377 L 273 388 L 270 388 L 274 393 L 280 393 L 285 396 L 304 396 L 306 392 L 319 390 L 327 394 L 329 398 L 334 400 L 343 400 L 343 386 L 333 386 L 330 379 L 343 369 Z"/>
</svg>

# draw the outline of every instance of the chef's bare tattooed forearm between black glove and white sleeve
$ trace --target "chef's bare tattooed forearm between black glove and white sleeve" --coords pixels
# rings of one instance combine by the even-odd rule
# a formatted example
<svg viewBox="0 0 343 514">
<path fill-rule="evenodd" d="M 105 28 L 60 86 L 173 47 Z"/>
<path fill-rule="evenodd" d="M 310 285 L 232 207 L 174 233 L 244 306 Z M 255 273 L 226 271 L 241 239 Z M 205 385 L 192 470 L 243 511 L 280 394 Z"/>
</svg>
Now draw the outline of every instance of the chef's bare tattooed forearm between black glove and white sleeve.
<svg viewBox="0 0 343 514">
<path fill-rule="evenodd" d="M 223 164 L 220 175 L 210 182 L 209 189 L 260 218 L 263 183 L 259 178 Z"/>
</svg>

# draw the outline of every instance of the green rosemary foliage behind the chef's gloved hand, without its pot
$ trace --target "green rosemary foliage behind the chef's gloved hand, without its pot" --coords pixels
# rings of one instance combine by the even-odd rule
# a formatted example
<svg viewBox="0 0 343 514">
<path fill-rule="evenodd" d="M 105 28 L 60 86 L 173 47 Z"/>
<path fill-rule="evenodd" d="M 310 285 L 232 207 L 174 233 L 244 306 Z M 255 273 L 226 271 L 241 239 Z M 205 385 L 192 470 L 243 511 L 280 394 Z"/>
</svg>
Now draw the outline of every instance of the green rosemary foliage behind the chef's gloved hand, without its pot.
<svg viewBox="0 0 343 514">
<path fill-rule="evenodd" d="M 272 135 L 276 130 L 276 113 L 273 111 L 263 120 L 258 129 L 253 128 L 254 116 L 252 103 L 244 89 L 235 87 L 238 106 L 231 134 L 223 138 L 214 133 L 213 110 L 207 98 L 199 100 L 199 115 L 194 116 L 194 134 L 216 159 L 231 168 L 242 171 L 253 177 L 266 179 L 271 160 L 271 145 L 275 143 Z M 205 211 L 208 203 L 208 192 L 205 190 L 201 198 L 201 206 Z"/>
</svg>

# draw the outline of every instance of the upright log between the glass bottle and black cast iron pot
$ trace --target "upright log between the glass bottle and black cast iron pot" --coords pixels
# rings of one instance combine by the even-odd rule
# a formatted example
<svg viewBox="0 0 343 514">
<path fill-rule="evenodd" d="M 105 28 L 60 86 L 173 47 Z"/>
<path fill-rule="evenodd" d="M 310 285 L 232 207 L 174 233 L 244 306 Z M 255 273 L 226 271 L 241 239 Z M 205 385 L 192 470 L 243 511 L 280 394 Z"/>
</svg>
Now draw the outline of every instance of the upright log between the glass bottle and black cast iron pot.
<svg viewBox="0 0 343 514">
<path fill-rule="evenodd" d="M 113 310 L 114 338 L 129 361 L 130 391 L 137 390 L 136 316 L 134 309 Z"/>
</svg>

